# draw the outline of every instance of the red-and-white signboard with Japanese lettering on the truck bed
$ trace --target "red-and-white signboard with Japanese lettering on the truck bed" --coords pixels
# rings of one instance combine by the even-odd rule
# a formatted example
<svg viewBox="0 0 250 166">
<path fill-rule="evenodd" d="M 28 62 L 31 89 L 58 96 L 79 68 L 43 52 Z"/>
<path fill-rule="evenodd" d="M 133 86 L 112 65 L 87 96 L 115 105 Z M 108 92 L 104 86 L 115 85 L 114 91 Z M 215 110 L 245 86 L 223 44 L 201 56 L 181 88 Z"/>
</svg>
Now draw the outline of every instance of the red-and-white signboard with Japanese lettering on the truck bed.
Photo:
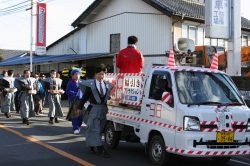
<svg viewBox="0 0 250 166">
<path fill-rule="evenodd" d="M 145 74 L 108 73 L 105 81 L 114 85 L 111 100 L 130 105 L 141 105 Z"/>
</svg>

